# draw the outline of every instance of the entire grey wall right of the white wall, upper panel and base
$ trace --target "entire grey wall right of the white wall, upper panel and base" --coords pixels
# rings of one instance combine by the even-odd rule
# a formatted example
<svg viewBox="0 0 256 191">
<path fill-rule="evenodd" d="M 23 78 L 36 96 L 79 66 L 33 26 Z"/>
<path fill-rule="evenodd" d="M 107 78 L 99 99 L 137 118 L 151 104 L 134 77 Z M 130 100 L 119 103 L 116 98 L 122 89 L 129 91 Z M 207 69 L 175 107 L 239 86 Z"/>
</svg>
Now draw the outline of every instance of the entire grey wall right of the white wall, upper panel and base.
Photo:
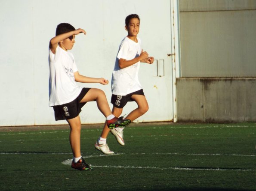
<svg viewBox="0 0 256 191">
<path fill-rule="evenodd" d="M 177 120 L 256 121 L 256 0 L 179 0 Z"/>
</svg>

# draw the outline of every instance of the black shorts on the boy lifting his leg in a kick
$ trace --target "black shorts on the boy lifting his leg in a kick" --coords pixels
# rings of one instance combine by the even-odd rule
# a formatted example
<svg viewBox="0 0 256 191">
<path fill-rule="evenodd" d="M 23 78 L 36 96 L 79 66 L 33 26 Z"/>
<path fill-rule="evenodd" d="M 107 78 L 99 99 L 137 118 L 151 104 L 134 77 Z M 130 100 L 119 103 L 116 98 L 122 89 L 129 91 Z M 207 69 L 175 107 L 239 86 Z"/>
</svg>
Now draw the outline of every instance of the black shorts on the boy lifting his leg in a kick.
<svg viewBox="0 0 256 191">
<path fill-rule="evenodd" d="M 78 116 L 81 108 L 86 104 L 86 102 L 80 103 L 80 101 L 89 90 L 90 88 L 83 88 L 81 93 L 73 101 L 67 104 L 53 106 L 55 120 L 73 119 Z"/>
</svg>

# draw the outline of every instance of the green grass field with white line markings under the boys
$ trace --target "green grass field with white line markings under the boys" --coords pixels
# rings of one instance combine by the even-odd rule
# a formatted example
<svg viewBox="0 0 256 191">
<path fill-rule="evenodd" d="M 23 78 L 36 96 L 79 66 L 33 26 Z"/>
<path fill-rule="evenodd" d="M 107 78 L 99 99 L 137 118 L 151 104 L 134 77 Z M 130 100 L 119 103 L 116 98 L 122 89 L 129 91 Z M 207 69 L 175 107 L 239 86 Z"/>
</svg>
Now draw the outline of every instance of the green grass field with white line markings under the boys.
<svg viewBox="0 0 256 191">
<path fill-rule="evenodd" d="M 68 128 L 0 131 L 0 191 L 256 190 L 256 123 L 131 124 L 114 155 L 94 149 L 101 129 L 81 134 L 93 171 L 70 167 Z"/>
</svg>

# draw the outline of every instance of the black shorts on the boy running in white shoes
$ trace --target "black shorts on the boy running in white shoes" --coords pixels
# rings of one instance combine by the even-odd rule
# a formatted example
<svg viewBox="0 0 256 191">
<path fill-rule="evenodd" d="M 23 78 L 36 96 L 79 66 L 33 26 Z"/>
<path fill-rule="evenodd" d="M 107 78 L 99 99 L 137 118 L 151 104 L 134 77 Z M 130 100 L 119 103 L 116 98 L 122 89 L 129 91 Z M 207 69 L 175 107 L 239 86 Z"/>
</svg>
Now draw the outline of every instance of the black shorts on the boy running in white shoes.
<svg viewBox="0 0 256 191">
<path fill-rule="evenodd" d="M 138 90 L 133 93 L 129 93 L 127 95 L 114 95 L 111 96 L 111 104 L 114 105 L 114 107 L 117 108 L 123 108 L 128 101 L 134 101 L 131 97 L 132 95 L 144 95 L 143 90 Z"/>
</svg>

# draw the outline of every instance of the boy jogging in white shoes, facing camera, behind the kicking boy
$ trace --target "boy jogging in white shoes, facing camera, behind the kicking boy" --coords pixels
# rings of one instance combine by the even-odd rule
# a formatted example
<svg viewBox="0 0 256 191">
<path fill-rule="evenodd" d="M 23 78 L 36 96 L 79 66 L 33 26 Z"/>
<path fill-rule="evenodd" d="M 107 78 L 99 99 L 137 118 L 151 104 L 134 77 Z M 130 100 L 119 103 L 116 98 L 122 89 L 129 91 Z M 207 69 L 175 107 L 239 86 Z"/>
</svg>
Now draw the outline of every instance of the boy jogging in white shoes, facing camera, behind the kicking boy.
<svg viewBox="0 0 256 191">
<path fill-rule="evenodd" d="M 113 104 L 112 113 L 114 116 L 120 116 L 128 101 L 136 101 L 138 107 L 126 116 L 126 119 L 133 121 L 148 111 L 148 102 L 138 79 L 139 66 L 141 62 L 152 64 L 154 57 L 148 57 L 148 53 L 141 49 L 141 40 L 137 37 L 140 24 L 139 16 L 136 14 L 128 15 L 125 24 L 128 35 L 120 44 L 112 73 L 111 103 Z M 116 137 L 120 145 L 124 145 L 123 127 L 110 130 L 105 125 L 95 144 L 95 148 L 104 154 L 114 153 L 104 146 L 109 131 Z"/>
</svg>

